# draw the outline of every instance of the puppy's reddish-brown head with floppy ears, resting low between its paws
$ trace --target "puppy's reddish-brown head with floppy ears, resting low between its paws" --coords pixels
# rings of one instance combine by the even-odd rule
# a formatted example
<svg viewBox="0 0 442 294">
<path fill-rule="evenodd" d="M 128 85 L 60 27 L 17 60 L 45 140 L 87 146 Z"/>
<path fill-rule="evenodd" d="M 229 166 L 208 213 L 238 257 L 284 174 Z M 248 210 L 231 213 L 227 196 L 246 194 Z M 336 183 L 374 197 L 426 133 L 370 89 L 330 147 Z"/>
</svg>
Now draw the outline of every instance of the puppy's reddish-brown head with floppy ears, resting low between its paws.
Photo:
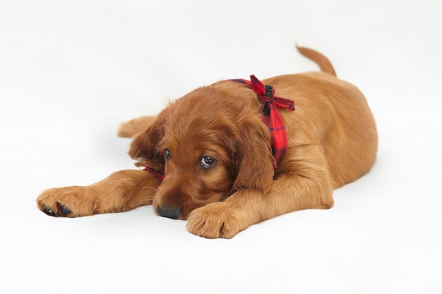
<svg viewBox="0 0 442 294">
<path fill-rule="evenodd" d="M 169 104 L 133 140 L 138 166 L 164 171 L 157 214 L 186 219 L 237 190 L 267 192 L 273 180 L 270 133 L 256 94 L 237 82 L 201 87 Z"/>
</svg>

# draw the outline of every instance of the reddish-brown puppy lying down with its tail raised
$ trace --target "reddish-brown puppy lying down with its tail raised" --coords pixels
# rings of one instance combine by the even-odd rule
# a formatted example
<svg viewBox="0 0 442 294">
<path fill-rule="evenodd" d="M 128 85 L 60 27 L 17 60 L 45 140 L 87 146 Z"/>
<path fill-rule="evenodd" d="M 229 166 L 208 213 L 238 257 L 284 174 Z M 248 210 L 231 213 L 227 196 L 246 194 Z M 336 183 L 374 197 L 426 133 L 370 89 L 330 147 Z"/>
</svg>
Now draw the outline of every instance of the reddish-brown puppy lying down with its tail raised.
<svg viewBox="0 0 442 294">
<path fill-rule="evenodd" d="M 169 104 L 156 119 L 121 125 L 125 137 L 144 130 L 129 154 L 164 180 L 119 171 L 88 187 L 46 190 L 38 206 L 49 215 L 85 216 L 153 204 L 157 214 L 188 219 L 187 229 L 206 238 L 232 238 L 280 214 L 333 207 L 333 189 L 374 164 L 376 124 L 364 95 L 336 78 L 325 56 L 298 50 L 322 71 L 263 80 L 296 107 L 278 109 L 287 133 L 279 163 L 259 94 L 235 80 L 216 82 Z"/>
</svg>

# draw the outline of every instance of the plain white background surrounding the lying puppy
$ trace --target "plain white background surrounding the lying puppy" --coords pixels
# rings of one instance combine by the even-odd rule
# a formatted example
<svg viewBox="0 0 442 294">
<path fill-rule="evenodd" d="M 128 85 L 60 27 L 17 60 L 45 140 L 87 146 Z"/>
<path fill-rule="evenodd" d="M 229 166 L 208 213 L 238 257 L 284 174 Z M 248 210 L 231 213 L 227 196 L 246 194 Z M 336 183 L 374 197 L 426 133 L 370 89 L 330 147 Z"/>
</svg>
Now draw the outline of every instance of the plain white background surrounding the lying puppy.
<svg viewBox="0 0 442 294">
<path fill-rule="evenodd" d="M 441 3 L 0 1 L 0 293 L 442 293 Z M 316 71 L 295 42 L 378 123 L 376 165 L 333 209 L 232 240 L 151 207 L 37 209 L 46 188 L 133 168 L 123 121 L 220 79 Z"/>
</svg>

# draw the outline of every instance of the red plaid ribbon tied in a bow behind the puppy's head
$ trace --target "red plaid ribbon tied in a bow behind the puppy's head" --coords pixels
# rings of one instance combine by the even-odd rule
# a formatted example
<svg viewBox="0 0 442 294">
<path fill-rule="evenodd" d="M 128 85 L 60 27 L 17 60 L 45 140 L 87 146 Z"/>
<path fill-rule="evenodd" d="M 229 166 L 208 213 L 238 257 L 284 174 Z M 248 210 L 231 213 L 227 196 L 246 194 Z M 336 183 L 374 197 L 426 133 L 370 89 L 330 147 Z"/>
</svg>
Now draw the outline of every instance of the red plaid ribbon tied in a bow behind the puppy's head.
<svg viewBox="0 0 442 294">
<path fill-rule="evenodd" d="M 264 85 L 255 75 L 251 75 L 250 80 L 234 79 L 232 81 L 249 85 L 252 90 L 258 94 L 258 99 L 262 103 L 261 113 L 263 116 L 261 120 L 267 125 L 270 131 L 270 144 L 272 146 L 273 157 L 275 157 L 276 161 L 275 164 L 273 164 L 273 168 L 276 169 L 287 150 L 287 133 L 285 133 L 284 122 L 277 109 L 282 107 L 293 111 L 294 102 L 289 99 L 275 97 L 275 89 L 273 89 L 272 86 Z"/>
</svg>

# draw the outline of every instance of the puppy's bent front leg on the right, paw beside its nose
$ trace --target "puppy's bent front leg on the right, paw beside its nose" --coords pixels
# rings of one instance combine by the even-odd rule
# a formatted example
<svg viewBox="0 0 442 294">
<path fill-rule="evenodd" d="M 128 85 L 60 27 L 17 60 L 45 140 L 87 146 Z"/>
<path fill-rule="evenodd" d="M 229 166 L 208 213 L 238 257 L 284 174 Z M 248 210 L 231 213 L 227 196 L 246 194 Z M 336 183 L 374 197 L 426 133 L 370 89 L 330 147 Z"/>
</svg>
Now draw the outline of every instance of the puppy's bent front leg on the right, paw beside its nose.
<svg viewBox="0 0 442 294">
<path fill-rule="evenodd" d="M 224 202 L 193 210 L 189 232 L 205 238 L 232 238 L 254 223 L 301 209 L 333 207 L 333 186 L 325 157 L 316 145 L 287 152 L 268 193 L 239 190 Z"/>
</svg>

